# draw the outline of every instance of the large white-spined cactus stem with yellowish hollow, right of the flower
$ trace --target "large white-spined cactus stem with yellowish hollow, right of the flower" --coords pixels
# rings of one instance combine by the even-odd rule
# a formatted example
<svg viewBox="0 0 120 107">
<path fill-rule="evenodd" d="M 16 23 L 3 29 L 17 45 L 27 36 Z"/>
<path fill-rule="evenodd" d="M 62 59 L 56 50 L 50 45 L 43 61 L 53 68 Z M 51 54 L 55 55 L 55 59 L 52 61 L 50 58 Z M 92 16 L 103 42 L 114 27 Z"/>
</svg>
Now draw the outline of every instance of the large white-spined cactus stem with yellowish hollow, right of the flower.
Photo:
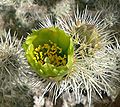
<svg viewBox="0 0 120 107">
<path fill-rule="evenodd" d="M 75 66 L 79 75 L 77 82 L 82 81 L 83 87 L 79 88 L 86 90 L 89 104 L 93 92 L 97 92 L 101 98 L 102 91 L 113 97 L 117 91 L 116 83 L 120 82 L 118 58 L 116 54 L 111 54 L 116 49 L 109 50 L 112 44 L 111 32 L 106 30 L 109 25 L 99 20 L 99 16 L 100 13 L 96 13 L 93 17 L 86 9 L 83 13 L 77 10 L 74 17 L 60 19 L 62 29 L 74 40 Z"/>
</svg>

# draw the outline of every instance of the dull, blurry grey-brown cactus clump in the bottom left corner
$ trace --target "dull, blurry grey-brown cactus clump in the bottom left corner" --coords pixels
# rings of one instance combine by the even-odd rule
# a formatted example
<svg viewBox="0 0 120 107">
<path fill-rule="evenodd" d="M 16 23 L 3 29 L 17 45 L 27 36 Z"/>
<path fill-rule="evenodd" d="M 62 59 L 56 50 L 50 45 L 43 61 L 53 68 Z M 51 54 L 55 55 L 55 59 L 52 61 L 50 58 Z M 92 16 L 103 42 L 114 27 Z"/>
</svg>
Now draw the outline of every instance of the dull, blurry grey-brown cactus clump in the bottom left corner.
<svg viewBox="0 0 120 107">
<path fill-rule="evenodd" d="M 1 107 L 33 107 L 33 104 L 33 96 L 28 93 L 26 86 L 15 86 L 12 90 L 4 89 L 4 93 L 0 90 Z"/>
</svg>

